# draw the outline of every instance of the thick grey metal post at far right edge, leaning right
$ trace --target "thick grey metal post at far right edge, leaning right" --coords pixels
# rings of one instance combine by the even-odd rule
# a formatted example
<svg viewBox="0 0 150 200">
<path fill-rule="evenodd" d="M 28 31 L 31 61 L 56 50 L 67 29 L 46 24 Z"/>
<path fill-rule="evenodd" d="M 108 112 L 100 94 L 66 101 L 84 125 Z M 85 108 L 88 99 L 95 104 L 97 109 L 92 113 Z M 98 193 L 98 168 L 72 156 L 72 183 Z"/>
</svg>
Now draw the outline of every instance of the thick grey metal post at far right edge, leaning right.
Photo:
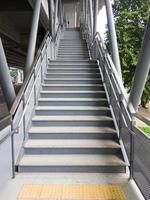
<svg viewBox="0 0 150 200">
<path fill-rule="evenodd" d="M 137 111 L 141 101 L 144 86 L 150 70 L 150 18 L 144 35 L 144 40 L 135 70 L 134 81 L 130 92 L 129 102 Z"/>
</svg>

